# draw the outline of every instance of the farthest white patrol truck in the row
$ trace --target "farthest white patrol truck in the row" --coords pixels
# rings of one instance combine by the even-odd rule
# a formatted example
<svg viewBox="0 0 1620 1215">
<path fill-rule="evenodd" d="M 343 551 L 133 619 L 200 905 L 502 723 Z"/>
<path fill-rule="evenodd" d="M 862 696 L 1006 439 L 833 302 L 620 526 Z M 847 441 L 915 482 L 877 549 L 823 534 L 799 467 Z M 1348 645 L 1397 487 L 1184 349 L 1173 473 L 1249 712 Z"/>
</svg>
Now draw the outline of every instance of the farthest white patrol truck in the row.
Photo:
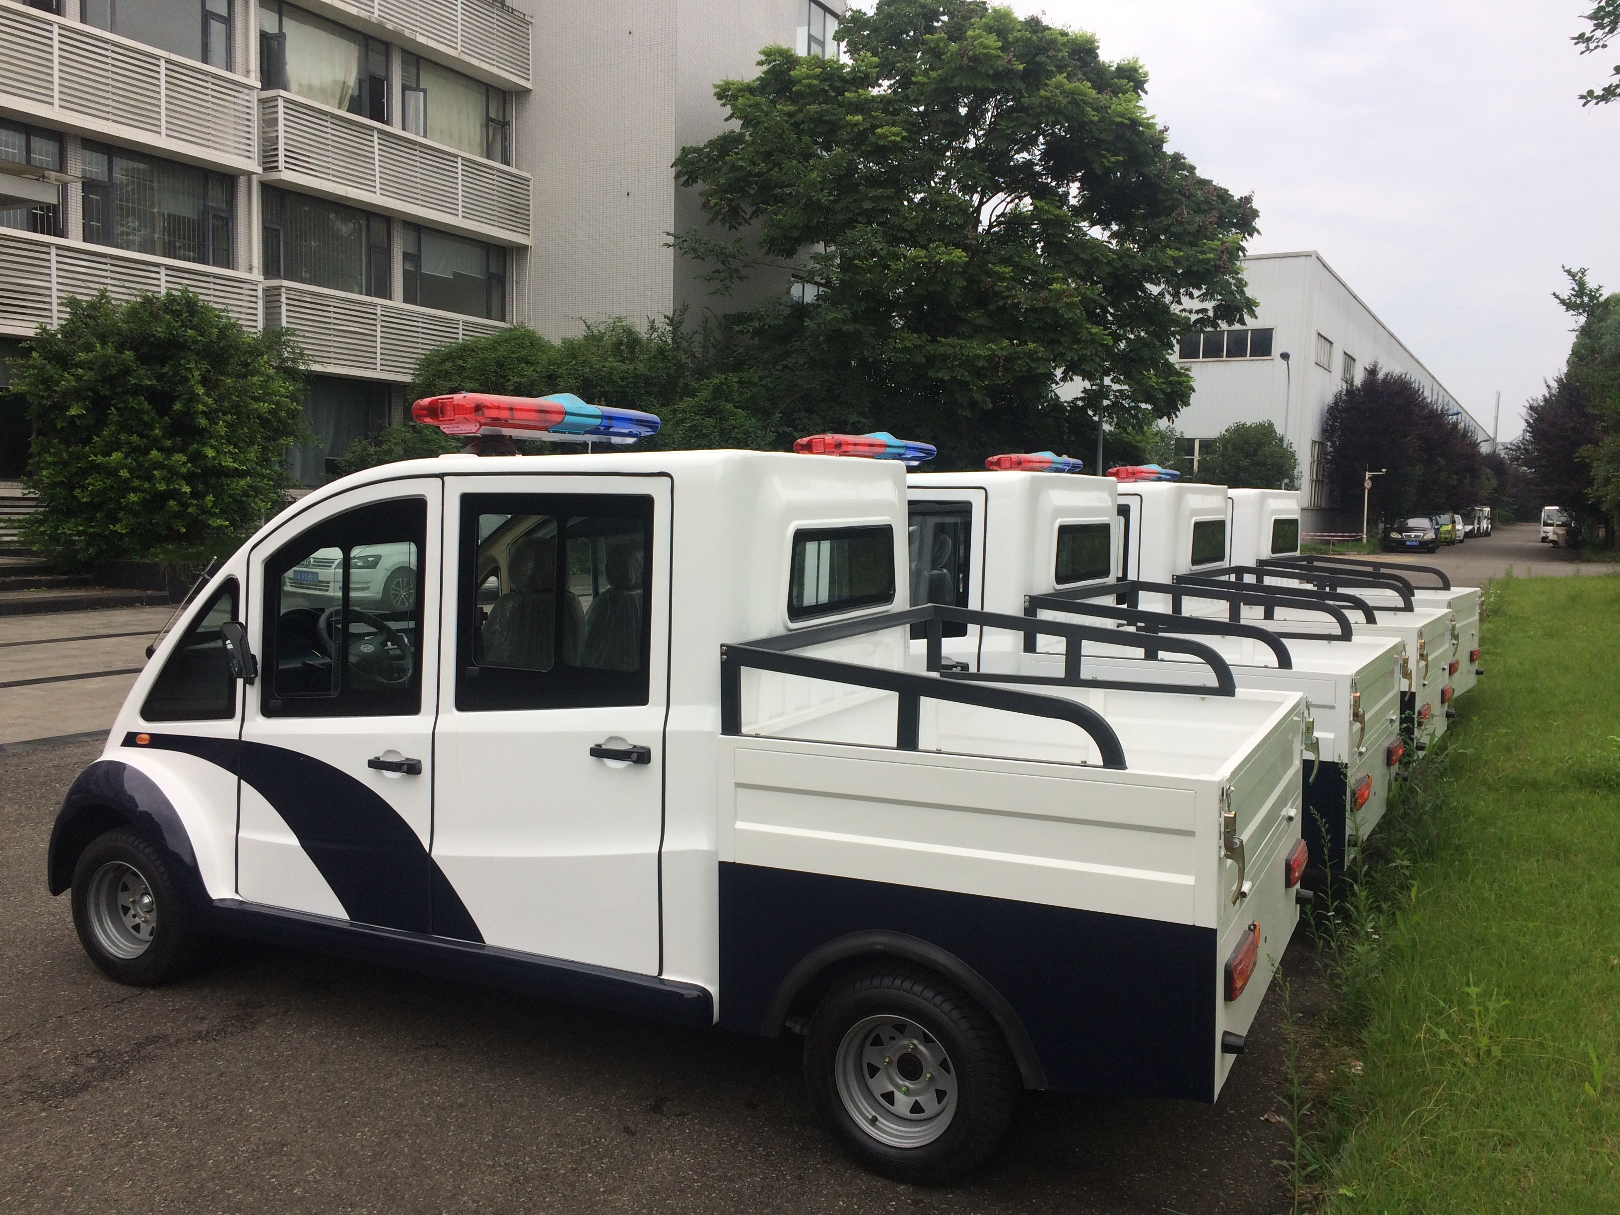
<svg viewBox="0 0 1620 1215">
<path fill-rule="evenodd" d="M 1456 617 L 1452 656 L 1445 664 L 1445 698 L 1473 690 L 1479 682 L 1479 603 L 1477 586 L 1453 586 L 1445 570 L 1434 565 L 1369 561 L 1361 557 L 1299 554 L 1299 492 L 1294 489 L 1228 489 L 1231 517 L 1231 564 L 1239 567 L 1304 565 L 1315 573 L 1340 572 L 1348 582 L 1317 582 L 1325 590 L 1348 590 L 1380 611 L 1400 611 L 1405 599 L 1414 608 L 1445 609 Z"/>
</svg>

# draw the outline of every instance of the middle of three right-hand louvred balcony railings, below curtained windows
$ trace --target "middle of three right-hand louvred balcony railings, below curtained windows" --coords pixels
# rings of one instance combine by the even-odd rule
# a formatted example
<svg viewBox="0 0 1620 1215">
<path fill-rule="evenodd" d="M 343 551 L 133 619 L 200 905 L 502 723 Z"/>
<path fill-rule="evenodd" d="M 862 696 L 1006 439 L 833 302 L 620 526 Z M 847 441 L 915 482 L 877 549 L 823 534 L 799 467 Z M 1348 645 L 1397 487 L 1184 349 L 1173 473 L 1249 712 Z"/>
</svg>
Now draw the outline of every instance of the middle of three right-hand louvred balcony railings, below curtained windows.
<svg viewBox="0 0 1620 1215">
<path fill-rule="evenodd" d="M 405 219 L 526 245 L 528 173 L 290 92 L 259 100 L 266 173 Z"/>
</svg>

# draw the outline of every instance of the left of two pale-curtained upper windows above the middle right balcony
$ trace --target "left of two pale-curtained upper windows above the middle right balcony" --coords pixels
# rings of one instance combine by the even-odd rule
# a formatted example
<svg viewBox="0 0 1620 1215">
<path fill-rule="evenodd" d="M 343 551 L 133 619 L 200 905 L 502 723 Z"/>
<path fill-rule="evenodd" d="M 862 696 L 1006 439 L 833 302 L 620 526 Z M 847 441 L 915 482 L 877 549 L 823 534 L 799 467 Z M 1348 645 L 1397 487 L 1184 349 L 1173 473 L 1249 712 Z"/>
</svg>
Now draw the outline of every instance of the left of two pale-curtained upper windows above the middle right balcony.
<svg viewBox="0 0 1620 1215">
<path fill-rule="evenodd" d="M 280 0 L 259 3 L 259 79 L 266 89 L 389 120 L 389 44 Z"/>
</svg>

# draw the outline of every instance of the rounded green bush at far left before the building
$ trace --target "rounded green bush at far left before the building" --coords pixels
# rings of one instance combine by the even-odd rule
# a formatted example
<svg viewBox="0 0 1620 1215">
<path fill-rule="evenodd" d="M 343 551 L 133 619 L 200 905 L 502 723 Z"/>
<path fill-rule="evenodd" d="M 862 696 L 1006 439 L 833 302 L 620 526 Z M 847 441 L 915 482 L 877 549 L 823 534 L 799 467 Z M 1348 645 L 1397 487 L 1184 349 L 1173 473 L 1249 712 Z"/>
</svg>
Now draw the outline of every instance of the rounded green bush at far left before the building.
<svg viewBox="0 0 1620 1215">
<path fill-rule="evenodd" d="M 301 366 L 285 329 L 251 334 L 191 292 L 70 300 L 13 368 L 29 543 L 79 565 L 228 551 L 285 505 Z"/>
</svg>

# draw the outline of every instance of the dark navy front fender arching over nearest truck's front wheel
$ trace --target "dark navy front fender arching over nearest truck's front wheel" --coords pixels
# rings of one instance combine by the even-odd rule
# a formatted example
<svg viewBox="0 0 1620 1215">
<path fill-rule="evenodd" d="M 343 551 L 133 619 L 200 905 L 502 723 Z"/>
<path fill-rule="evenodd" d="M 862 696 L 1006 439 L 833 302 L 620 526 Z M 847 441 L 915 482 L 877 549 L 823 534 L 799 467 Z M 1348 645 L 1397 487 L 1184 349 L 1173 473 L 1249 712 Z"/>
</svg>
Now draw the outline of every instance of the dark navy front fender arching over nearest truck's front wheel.
<svg viewBox="0 0 1620 1215">
<path fill-rule="evenodd" d="M 120 760 L 97 760 L 62 799 L 50 829 L 45 885 L 62 894 L 73 885 L 73 868 L 92 839 L 117 826 L 130 826 L 160 847 L 173 862 L 175 880 L 199 909 L 211 906 L 198 873 L 196 849 L 173 804 L 151 776 Z"/>
</svg>

